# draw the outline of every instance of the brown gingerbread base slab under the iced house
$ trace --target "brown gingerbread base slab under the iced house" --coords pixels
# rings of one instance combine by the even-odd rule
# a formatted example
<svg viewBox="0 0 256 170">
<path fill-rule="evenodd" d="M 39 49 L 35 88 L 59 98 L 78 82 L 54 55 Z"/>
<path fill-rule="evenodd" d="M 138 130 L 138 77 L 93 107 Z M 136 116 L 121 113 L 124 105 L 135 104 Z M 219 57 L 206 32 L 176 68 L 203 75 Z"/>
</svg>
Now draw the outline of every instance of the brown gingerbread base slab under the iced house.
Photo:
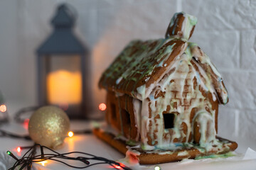
<svg viewBox="0 0 256 170">
<path fill-rule="evenodd" d="M 99 137 L 100 140 L 107 142 L 109 145 L 117 149 L 122 154 L 128 154 L 129 157 L 131 157 L 132 159 L 137 159 L 139 161 L 139 164 L 162 164 L 166 162 L 177 162 L 177 161 L 181 161 L 182 159 L 195 159 L 196 157 L 216 154 L 216 152 L 214 151 L 202 153 L 196 147 L 178 149 L 175 151 L 165 150 L 161 154 L 147 153 L 147 152 L 144 152 L 142 149 L 136 149 L 134 151 L 139 154 L 134 154 L 134 152 L 127 152 L 128 151 L 127 147 L 131 147 L 131 146 L 127 145 L 124 140 L 117 139 L 114 135 L 112 135 L 112 133 L 104 132 L 103 130 L 100 130 L 100 129 L 94 129 L 93 133 L 97 137 Z M 220 141 L 225 140 L 220 137 L 217 137 L 217 138 Z M 218 154 L 225 154 L 227 152 L 235 150 L 238 147 L 238 144 L 236 142 L 232 142 L 230 140 L 225 140 L 225 145 L 228 145 L 229 149 L 223 149 L 221 151 L 218 151 Z"/>
</svg>

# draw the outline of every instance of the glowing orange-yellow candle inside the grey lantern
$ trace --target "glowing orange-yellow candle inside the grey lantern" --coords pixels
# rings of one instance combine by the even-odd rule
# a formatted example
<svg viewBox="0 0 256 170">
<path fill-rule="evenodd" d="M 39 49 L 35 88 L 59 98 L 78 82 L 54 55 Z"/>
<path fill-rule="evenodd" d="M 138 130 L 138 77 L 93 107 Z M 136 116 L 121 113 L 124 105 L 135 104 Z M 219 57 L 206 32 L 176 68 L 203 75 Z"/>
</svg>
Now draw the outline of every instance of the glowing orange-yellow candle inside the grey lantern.
<svg viewBox="0 0 256 170">
<path fill-rule="evenodd" d="M 47 95 L 51 104 L 79 104 L 82 100 L 80 72 L 58 70 L 48 74 Z"/>
</svg>

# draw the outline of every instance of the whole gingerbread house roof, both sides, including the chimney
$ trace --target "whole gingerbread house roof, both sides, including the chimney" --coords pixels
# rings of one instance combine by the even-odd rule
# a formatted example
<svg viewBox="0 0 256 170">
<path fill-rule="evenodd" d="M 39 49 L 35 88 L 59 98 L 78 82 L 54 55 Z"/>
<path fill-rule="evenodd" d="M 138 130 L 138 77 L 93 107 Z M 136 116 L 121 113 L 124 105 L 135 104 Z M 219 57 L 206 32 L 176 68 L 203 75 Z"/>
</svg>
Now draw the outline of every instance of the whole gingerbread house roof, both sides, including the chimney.
<svg viewBox="0 0 256 170">
<path fill-rule="evenodd" d="M 195 25 L 196 19 L 193 16 L 176 13 L 167 28 L 165 39 L 130 42 L 102 74 L 99 86 L 135 98 L 145 98 L 169 71 L 174 59 L 185 52 Z M 228 93 L 220 74 L 197 47 L 190 47 L 190 51 L 196 55 L 193 57 L 209 72 L 220 103 L 227 103 Z M 139 93 L 142 87 L 148 89 L 144 96 Z"/>
</svg>

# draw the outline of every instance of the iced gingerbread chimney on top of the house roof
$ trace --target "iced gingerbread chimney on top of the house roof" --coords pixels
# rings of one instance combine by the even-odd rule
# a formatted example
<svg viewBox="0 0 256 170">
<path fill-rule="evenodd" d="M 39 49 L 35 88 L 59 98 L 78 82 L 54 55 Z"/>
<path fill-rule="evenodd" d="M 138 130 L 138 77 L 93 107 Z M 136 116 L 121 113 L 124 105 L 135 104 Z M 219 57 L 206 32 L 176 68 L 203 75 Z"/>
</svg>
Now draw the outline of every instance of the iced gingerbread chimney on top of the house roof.
<svg viewBox="0 0 256 170">
<path fill-rule="evenodd" d="M 173 18 L 171 18 L 171 23 L 169 23 L 165 37 L 170 38 L 174 36 L 188 40 L 193 34 L 196 23 L 197 18 L 195 16 L 184 12 L 175 13 Z"/>
</svg>

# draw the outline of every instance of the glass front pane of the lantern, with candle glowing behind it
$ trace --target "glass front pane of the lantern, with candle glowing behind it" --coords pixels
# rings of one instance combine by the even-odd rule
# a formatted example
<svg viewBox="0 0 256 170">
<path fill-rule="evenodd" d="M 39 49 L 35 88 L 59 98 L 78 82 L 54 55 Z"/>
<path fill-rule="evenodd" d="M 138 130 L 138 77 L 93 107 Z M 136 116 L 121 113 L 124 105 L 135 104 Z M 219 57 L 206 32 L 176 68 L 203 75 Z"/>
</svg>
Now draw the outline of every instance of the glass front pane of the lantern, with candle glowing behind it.
<svg viewBox="0 0 256 170">
<path fill-rule="evenodd" d="M 80 55 L 54 55 L 46 59 L 46 101 L 70 108 L 82 102 Z"/>
</svg>

